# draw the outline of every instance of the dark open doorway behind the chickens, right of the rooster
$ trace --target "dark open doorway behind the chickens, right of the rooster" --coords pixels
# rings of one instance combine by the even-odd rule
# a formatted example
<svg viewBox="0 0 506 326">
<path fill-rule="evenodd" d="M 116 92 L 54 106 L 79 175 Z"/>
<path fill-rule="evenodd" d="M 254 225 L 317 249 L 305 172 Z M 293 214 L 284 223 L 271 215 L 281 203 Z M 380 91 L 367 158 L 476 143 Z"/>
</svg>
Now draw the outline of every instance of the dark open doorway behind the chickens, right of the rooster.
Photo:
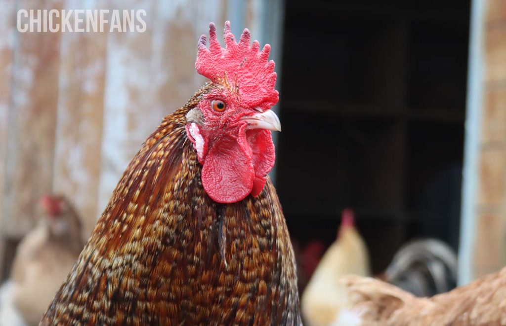
<svg viewBox="0 0 506 326">
<path fill-rule="evenodd" d="M 352 207 L 381 272 L 404 242 L 457 250 L 469 1 L 286 1 L 276 188 L 291 237 Z"/>
</svg>

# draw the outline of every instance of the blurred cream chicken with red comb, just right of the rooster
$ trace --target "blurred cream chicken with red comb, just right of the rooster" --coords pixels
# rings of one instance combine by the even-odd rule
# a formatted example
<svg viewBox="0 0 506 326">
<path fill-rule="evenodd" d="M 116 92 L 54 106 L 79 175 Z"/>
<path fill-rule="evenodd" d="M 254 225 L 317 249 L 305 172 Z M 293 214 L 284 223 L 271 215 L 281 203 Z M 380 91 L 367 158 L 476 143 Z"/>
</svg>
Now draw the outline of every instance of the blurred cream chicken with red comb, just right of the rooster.
<svg viewBox="0 0 506 326">
<path fill-rule="evenodd" d="M 364 241 L 354 227 L 354 214 L 345 209 L 338 239 L 323 255 L 306 287 L 301 302 L 308 326 L 330 325 L 346 303 L 343 275 L 369 275 L 369 257 Z"/>
</svg>

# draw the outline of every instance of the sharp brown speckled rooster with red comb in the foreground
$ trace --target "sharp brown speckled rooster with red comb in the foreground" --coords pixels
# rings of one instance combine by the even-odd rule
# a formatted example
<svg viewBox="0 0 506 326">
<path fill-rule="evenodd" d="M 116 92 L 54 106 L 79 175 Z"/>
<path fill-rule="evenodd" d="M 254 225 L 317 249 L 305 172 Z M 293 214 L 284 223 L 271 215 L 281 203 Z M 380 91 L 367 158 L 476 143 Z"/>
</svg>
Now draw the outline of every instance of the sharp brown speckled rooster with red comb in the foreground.
<svg viewBox="0 0 506 326">
<path fill-rule="evenodd" d="M 198 42 L 210 79 L 164 118 L 116 186 L 41 325 L 301 324 L 267 173 L 278 101 L 270 46 L 225 23 Z"/>
</svg>

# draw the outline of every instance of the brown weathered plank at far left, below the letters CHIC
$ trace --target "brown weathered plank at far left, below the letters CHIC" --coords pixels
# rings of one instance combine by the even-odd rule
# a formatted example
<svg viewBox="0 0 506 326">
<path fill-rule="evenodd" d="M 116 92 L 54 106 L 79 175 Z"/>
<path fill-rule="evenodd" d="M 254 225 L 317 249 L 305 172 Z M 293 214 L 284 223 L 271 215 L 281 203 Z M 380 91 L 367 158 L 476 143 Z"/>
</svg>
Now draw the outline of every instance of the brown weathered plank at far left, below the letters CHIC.
<svg viewBox="0 0 506 326">
<path fill-rule="evenodd" d="M 60 0 L 20 0 L 23 9 L 60 9 Z M 60 33 L 19 33 L 14 49 L 12 107 L 4 196 L 4 233 L 24 234 L 39 196 L 53 180 Z"/>
</svg>

